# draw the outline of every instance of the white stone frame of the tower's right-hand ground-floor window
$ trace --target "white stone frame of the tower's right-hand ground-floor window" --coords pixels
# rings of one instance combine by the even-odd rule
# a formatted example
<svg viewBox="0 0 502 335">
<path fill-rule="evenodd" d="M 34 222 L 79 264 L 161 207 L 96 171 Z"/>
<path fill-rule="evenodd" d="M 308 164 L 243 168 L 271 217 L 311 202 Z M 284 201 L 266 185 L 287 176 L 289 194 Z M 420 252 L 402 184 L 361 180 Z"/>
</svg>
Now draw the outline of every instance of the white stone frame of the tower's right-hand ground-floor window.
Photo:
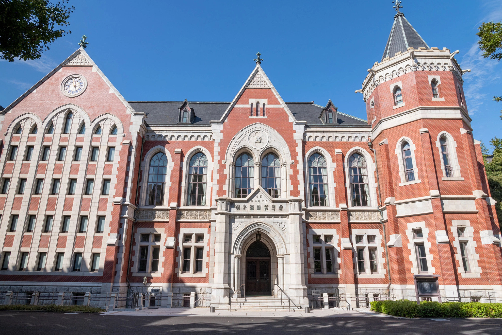
<svg viewBox="0 0 502 335">
<path fill-rule="evenodd" d="M 465 227 L 463 238 L 458 237 L 457 227 Z M 475 248 L 477 247 L 477 243 L 474 241 L 474 227 L 471 227 L 470 220 L 451 220 L 450 230 L 454 238 L 452 241 L 452 247 L 456 251 L 455 260 L 458 262 L 458 272 L 461 274 L 462 278 L 480 278 L 482 269 L 477 262 L 479 260 L 479 254 L 476 253 Z M 467 260 L 470 268 L 470 271 L 468 272 L 465 272 L 462 263 L 460 242 L 467 243 Z"/>
</svg>

